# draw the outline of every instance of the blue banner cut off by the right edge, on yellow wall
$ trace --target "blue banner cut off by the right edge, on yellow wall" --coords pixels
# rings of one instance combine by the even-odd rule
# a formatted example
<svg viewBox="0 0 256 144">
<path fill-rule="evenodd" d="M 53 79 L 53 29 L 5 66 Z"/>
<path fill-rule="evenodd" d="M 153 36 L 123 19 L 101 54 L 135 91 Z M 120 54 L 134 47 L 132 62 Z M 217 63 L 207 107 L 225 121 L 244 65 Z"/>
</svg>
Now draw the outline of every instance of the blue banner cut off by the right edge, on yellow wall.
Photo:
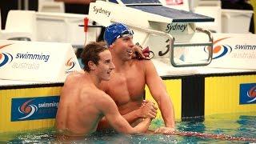
<svg viewBox="0 0 256 144">
<path fill-rule="evenodd" d="M 256 83 L 240 84 L 240 105 L 256 103 Z"/>
</svg>

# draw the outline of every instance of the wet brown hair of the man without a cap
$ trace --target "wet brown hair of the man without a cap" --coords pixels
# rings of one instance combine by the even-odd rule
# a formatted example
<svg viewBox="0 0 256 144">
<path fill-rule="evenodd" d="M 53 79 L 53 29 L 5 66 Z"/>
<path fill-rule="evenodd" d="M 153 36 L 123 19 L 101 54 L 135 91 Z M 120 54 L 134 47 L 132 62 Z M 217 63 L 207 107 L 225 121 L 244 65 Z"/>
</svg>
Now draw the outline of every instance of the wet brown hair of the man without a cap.
<svg viewBox="0 0 256 144">
<path fill-rule="evenodd" d="M 104 50 L 108 50 L 105 42 L 90 42 L 87 44 L 81 54 L 82 63 L 84 64 L 83 70 L 87 72 L 90 71 L 90 67 L 88 66 L 88 62 L 90 61 L 94 62 L 95 65 L 98 65 L 100 59 L 99 54 Z"/>
</svg>

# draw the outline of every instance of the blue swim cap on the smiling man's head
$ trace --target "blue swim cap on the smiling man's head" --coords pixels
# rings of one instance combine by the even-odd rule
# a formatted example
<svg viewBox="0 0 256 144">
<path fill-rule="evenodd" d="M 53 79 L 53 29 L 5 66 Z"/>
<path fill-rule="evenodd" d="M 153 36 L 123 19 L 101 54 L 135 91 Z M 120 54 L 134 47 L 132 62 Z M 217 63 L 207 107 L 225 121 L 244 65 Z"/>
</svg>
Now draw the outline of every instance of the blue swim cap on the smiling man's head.
<svg viewBox="0 0 256 144">
<path fill-rule="evenodd" d="M 132 36 L 133 30 L 130 30 L 126 25 L 122 23 L 113 23 L 106 27 L 104 32 L 104 40 L 107 46 L 110 46 L 116 39 L 120 37 Z"/>
</svg>

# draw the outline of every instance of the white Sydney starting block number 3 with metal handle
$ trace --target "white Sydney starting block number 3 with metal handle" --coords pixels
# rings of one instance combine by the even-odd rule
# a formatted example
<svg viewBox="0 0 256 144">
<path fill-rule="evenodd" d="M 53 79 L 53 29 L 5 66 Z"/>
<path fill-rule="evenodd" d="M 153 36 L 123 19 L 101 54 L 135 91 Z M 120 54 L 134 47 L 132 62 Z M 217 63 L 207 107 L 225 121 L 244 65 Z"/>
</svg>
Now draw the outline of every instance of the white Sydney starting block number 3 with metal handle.
<svg viewBox="0 0 256 144">
<path fill-rule="evenodd" d="M 155 58 L 170 57 L 173 66 L 206 66 L 211 62 L 210 31 L 197 28 L 194 22 L 213 22 L 214 18 L 174 10 L 162 6 L 158 0 L 91 2 L 89 18 L 103 26 L 125 23 L 134 30 L 135 43 L 149 46 Z M 204 50 L 205 47 L 208 51 L 203 58 L 182 59 L 187 49 Z"/>
</svg>

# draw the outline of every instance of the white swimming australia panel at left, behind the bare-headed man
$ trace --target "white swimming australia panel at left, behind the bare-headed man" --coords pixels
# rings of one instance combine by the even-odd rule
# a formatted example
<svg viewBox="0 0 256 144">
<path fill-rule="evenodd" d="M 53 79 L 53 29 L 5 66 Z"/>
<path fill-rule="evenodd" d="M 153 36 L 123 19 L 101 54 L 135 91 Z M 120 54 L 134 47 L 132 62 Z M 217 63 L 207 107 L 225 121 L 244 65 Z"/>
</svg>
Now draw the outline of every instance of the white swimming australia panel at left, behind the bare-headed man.
<svg viewBox="0 0 256 144">
<path fill-rule="evenodd" d="M 64 82 L 74 70 L 81 68 L 68 43 L 0 41 L 1 79 Z"/>
</svg>

